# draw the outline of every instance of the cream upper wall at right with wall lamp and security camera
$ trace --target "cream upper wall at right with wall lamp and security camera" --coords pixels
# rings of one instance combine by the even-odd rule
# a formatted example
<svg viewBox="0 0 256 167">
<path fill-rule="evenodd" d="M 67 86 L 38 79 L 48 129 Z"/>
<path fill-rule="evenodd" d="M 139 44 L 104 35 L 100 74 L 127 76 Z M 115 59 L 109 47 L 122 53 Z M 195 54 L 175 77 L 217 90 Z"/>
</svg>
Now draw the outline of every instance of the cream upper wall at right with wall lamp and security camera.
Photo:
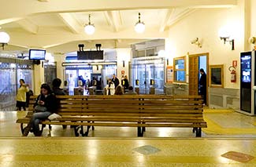
<svg viewBox="0 0 256 167">
<path fill-rule="evenodd" d="M 244 50 L 243 8 L 243 1 L 239 1 L 239 5 L 232 9 L 197 9 L 191 16 L 175 24 L 169 29 L 169 45 L 166 45 L 171 60 L 187 53 L 210 53 L 210 65 L 224 64 L 224 87 L 238 89 L 239 82 L 230 82 L 228 67 L 232 65 L 232 60 L 239 63 L 239 53 Z M 224 26 L 230 27 L 234 35 L 235 50 L 228 42 L 224 45 L 218 37 L 218 31 Z M 199 38 L 202 48 L 191 44 L 194 38 Z"/>
</svg>

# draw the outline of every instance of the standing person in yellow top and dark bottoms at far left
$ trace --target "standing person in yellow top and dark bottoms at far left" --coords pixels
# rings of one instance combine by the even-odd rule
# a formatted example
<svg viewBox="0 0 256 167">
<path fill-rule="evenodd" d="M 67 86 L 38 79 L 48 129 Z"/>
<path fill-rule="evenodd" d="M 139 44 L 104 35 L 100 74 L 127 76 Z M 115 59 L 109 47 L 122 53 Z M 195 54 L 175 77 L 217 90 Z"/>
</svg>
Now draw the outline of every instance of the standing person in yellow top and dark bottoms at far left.
<svg viewBox="0 0 256 167">
<path fill-rule="evenodd" d="M 24 79 L 20 79 L 20 88 L 17 90 L 17 111 L 21 111 L 21 107 L 23 107 L 23 110 L 26 111 L 26 93 L 28 93 L 28 85 L 25 84 Z"/>
</svg>

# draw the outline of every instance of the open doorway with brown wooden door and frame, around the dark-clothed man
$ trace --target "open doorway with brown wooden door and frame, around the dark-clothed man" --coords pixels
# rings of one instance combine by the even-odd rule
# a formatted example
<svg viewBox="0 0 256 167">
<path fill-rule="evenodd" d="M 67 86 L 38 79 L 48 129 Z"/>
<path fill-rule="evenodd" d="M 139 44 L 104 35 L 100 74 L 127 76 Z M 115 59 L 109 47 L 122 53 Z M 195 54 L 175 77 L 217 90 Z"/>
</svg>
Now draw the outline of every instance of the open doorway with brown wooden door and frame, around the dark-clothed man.
<svg viewBox="0 0 256 167">
<path fill-rule="evenodd" d="M 199 70 L 202 68 L 206 72 L 206 76 L 209 71 L 209 53 L 200 53 L 195 55 L 189 55 L 189 95 L 198 95 L 198 83 L 200 79 Z M 208 85 L 209 79 L 206 79 L 206 105 L 208 105 Z"/>
</svg>

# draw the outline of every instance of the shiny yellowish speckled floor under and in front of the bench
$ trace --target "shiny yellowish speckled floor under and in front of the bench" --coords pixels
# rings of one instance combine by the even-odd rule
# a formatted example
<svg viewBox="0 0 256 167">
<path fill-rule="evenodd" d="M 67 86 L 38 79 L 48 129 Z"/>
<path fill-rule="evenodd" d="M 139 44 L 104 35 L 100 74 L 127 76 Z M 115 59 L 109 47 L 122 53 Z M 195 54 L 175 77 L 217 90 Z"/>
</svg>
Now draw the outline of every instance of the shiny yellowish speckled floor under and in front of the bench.
<svg viewBox="0 0 256 167">
<path fill-rule="evenodd" d="M 125 127 L 95 127 L 89 137 L 73 137 L 73 129 L 60 125 L 52 137 L 47 129 L 43 137 L 21 137 L 15 122 L 25 114 L 0 111 L 0 166 L 256 165 L 256 158 L 242 163 L 221 157 L 228 151 L 256 155 L 256 118 L 234 111 L 206 109 L 202 138 L 186 128 L 147 128 L 144 137 L 136 137 L 135 128 Z"/>
</svg>

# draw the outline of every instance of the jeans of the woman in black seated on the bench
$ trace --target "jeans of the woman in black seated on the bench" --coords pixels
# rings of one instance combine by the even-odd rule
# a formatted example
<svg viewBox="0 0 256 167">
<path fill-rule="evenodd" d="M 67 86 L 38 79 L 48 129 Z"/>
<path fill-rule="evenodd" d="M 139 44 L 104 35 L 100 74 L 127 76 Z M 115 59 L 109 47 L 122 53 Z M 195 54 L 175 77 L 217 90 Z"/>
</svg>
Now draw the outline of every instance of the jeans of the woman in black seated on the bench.
<svg viewBox="0 0 256 167">
<path fill-rule="evenodd" d="M 29 121 L 30 128 L 33 129 L 34 133 L 39 133 L 39 122 L 45 120 L 52 114 L 49 111 L 37 112 L 32 115 L 32 118 Z"/>
</svg>

